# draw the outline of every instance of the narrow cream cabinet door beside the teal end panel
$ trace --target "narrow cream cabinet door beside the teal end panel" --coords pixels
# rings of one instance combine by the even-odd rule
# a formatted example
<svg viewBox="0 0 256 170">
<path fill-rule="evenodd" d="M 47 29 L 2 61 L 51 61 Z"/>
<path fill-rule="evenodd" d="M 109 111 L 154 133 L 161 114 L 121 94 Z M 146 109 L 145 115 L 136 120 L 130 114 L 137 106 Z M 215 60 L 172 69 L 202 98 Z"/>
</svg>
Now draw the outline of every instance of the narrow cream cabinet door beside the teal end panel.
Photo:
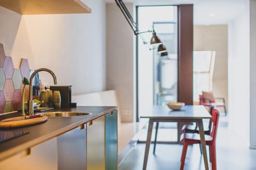
<svg viewBox="0 0 256 170">
<path fill-rule="evenodd" d="M 105 116 L 87 123 L 87 170 L 105 170 Z"/>
</svg>

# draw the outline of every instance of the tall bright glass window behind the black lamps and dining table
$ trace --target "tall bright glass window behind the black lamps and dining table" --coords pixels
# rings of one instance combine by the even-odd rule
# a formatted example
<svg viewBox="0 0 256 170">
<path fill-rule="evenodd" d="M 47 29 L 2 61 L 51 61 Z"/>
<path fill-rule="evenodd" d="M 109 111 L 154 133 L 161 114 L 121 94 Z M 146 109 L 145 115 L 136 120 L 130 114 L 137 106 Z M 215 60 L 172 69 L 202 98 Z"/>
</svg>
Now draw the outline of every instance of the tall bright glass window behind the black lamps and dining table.
<svg viewBox="0 0 256 170">
<path fill-rule="evenodd" d="M 157 46 L 143 43 L 150 41 L 150 33 L 138 39 L 137 102 L 138 113 L 143 114 L 150 106 L 178 101 L 178 7 L 138 6 L 137 22 L 140 31 L 154 27 L 168 53 L 162 55 Z"/>
</svg>

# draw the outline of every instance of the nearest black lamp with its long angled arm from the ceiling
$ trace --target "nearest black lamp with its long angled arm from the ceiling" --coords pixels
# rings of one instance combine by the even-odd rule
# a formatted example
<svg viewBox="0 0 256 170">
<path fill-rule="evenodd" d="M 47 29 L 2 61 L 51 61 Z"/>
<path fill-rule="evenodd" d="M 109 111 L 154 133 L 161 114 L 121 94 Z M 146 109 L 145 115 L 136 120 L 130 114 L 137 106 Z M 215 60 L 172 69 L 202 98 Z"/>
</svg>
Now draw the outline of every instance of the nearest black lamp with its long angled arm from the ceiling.
<svg viewBox="0 0 256 170">
<path fill-rule="evenodd" d="M 152 32 L 153 33 L 153 37 L 150 40 L 150 45 L 155 46 L 155 45 L 160 45 L 162 44 L 162 41 L 160 40 L 160 38 L 156 35 L 156 32 L 154 30 L 148 30 L 148 31 L 143 31 L 140 32 L 138 30 L 138 24 L 133 20 L 132 15 L 130 14 L 130 12 L 128 11 L 127 7 L 125 6 L 125 4 L 123 3 L 122 0 L 115 0 L 117 6 L 120 8 L 121 12 L 123 13 L 125 19 L 127 20 L 127 22 L 129 23 L 130 27 L 133 30 L 133 33 L 135 36 L 140 35 L 141 33 L 146 33 L 146 32 Z M 142 37 L 141 39 L 143 40 L 143 44 L 148 44 Z"/>
</svg>

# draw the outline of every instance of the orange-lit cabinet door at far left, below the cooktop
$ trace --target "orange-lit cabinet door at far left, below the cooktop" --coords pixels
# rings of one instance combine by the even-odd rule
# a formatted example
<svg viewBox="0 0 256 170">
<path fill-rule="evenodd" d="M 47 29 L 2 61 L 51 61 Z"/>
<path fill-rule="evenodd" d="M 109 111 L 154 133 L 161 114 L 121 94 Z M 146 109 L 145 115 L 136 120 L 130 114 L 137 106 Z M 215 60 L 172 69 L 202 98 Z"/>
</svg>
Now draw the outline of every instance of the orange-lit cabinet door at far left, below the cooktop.
<svg viewBox="0 0 256 170">
<path fill-rule="evenodd" d="M 57 140 L 53 138 L 0 162 L 0 169 L 57 169 Z"/>
</svg>

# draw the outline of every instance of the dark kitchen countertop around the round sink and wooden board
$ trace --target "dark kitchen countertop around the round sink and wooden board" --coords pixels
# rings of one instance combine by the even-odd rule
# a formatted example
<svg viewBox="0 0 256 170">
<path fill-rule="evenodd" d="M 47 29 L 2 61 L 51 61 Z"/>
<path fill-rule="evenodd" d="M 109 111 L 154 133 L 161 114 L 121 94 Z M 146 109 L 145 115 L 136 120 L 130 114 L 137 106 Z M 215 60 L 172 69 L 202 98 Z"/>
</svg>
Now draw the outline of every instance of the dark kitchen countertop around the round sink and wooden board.
<svg viewBox="0 0 256 170">
<path fill-rule="evenodd" d="M 77 106 L 76 108 L 53 109 L 47 112 L 90 112 L 91 115 L 71 117 L 48 117 L 41 124 L 26 126 L 23 128 L 0 129 L 1 131 L 26 131 L 28 134 L 0 143 L 0 161 L 17 154 L 23 150 L 34 147 L 39 143 L 57 137 L 60 134 L 77 128 L 89 121 L 115 111 L 115 106 Z M 45 113 L 45 112 L 44 112 Z M 0 120 L 10 116 L 18 116 L 20 113 L 0 116 Z"/>
</svg>

